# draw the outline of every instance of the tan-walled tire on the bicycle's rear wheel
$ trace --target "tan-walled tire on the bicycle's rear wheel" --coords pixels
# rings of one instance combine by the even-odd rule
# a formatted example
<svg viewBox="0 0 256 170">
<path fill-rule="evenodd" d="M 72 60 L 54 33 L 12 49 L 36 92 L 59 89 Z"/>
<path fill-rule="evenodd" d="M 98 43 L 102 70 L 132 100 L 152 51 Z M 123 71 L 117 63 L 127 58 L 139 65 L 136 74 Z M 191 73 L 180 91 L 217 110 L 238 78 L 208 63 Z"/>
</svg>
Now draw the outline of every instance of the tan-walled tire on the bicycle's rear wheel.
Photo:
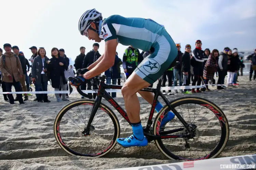
<svg viewBox="0 0 256 170">
<path fill-rule="evenodd" d="M 207 104 L 207 107 L 213 107 L 213 109 L 215 109 L 222 117 L 221 121 L 215 114 L 215 116 L 219 119 L 219 122 L 221 124 L 221 137 L 220 140 L 217 144 L 217 146 L 212 150 L 212 152 L 210 152 L 207 155 L 204 155 L 202 157 L 197 157 L 197 158 L 184 158 L 181 156 L 177 156 L 175 154 L 173 154 L 171 151 L 169 151 L 165 145 L 163 145 L 162 140 L 166 140 L 166 139 L 158 139 L 155 140 L 155 144 L 157 146 L 157 148 L 165 155 L 167 156 L 169 159 L 174 159 L 174 160 L 187 160 L 187 161 L 193 161 L 193 160 L 202 160 L 202 159 L 209 159 L 209 158 L 215 158 L 216 156 L 218 156 L 223 149 L 225 148 L 227 141 L 229 139 L 229 125 L 228 125 L 228 120 L 225 116 L 225 114 L 223 113 L 223 111 L 213 102 L 200 98 L 200 97 L 182 97 L 182 98 L 178 98 L 178 99 L 174 99 L 170 102 L 170 104 L 173 106 L 173 108 L 175 108 L 176 106 L 182 105 L 182 104 L 188 104 L 188 103 L 196 103 L 196 104 Z M 193 103 L 193 104 L 194 104 Z M 165 113 L 166 109 L 168 109 L 168 111 L 170 111 L 171 109 L 165 105 L 163 106 L 163 108 L 159 111 L 158 115 L 155 118 L 154 124 L 153 124 L 153 133 L 154 135 L 157 135 L 157 126 L 159 128 L 159 124 L 160 122 L 158 122 L 160 120 L 160 116 Z M 211 109 L 210 109 L 211 110 Z M 175 116 L 176 117 L 176 116 Z M 157 125 L 158 124 L 158 125 Z M 159 130 L 159 129 L 158 129 Z M 159 134 L 159 133 L 158 133 Z M 174 139 L 174 138 L 172 138 Z M 175 138 L 177 139 L 177 138 Z M 179 138 L 181 139 L 181 138 Z M 185 152 L 184 152 L 185 154 Z M 191 155 L 191 152 L 190 152 Z M 198 154 L 199 155 L 199 154 Z"/>
</svg>

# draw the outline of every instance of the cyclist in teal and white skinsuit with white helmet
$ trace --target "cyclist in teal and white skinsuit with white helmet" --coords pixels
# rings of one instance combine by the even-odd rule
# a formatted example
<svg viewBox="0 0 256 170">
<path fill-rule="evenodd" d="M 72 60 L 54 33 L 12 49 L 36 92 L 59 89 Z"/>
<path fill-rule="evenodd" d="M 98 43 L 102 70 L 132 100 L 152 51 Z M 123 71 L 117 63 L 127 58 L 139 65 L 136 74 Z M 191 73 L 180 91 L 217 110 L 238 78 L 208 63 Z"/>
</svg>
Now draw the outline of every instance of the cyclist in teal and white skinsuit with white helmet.
<svg viewBox="0 0 256 170">
<path fill-rule="evenodd" d="M 146 146 L 147 139 L 143 134 L 140 120 L 140 103 L 138 92 L 148 103 L 152 104 L 154 96 L 150 92 L 139 91 L 153 84 L 168 69 L 177 56 L 177 48 L 164 26 L 151 19 L 125 18 L 112 15 L 102 20 L 102 15 L 95 9 L 86 11 L 79 20 L 79 31 L 89 40 L 105 40 L 105 53 L 87 69 L 83 77 L 71 81 L 71 85 L 91 79 L 113 66 L 118 43 L 133 46 L 143 51 L 150 51 L 141 64 L 133 71 L 122 87 L 127 115 L 132 125 L 133 134 L 127 138 L 118 138 L 117 143 L 123 147 Z M 163 107 L 155 102 L 156 111 Z M 161 126 L 174 118 L 169 112 L 161 121 Z"/>
</svg>

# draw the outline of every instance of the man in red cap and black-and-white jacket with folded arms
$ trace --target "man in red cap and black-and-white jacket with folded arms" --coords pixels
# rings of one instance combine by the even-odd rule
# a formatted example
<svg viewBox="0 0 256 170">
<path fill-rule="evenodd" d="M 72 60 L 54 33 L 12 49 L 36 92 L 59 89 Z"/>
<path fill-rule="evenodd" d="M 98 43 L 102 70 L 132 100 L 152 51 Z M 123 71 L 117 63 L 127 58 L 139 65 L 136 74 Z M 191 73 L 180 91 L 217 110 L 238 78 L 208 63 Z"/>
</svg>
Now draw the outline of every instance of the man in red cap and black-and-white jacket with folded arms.
<svg viewBox="0 0 256 170">
<path fill-rule="evenodd" d="M 193 57 L 191 59 L 191 66 L 193 66 L 193 72 L 194 72 L 194 80 L 192 82 L 192 86 L 195 86 L 197 83 L 197 86 L 201 85 L 201 77 L 203 76 L 203 50 L 202 50 L 202 41 L 197 40 L 196 41 L 196 48 L 193 50 Z M 197 88 L 197 91 L 195 91 L 195 88 L 192 88 L 192 93 L 201 93 L 202 91 Z"/>
</svg>

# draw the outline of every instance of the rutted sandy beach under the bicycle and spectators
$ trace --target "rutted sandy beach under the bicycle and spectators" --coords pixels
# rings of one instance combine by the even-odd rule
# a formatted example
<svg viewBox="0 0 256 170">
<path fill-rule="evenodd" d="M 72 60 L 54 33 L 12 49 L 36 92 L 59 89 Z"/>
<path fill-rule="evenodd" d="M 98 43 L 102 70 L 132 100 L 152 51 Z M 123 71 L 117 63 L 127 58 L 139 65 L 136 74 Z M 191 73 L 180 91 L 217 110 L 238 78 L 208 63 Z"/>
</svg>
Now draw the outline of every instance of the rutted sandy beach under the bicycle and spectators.
<svg viewBox="0 0 256 170">
<path fill-rule="evenodd" d="M 248 155 L 256 152 L 256 82 L 249 81 L 248 76 L 240 76 L 238 80 L 240 85 L 237 87 L 216 90 L 216 86 L 210 86 L 211 92 L 193 94 L 214 102 L 228 119 L 229 141 L 218 157 Z M 48 89 L 53 90 L 51 85 Z M 189 95 L 178 93 L 167 98 L 171 101 L 182 96 Z M 0 99 L 1 170 L 93 170 L 179 162 L 163 155 L 153 141 L 142 148 L 125 149 L 116 145 L 111 152 L 100 158 L 70 156 L 60 148 L 53 131 L 57 113 L 68 102 L 57 103 L 53 94 L 48 95 L 51 103 L 33 102 L 34 98 L 35 95 L 29 96 L 30 100 L 24 105 L 19 105 L 18 102 L 10 105 L 3 100 L 3 97 Z M 80 99 L 80 95 L 71 94 L 69 99 L 70 101 Z M 124 107 L 124 100 L 120 93 L 115 100 Z M 151 105 L 141 97 L 139 100 L 140 116 L 145 125 Z M 106 100 L 102 102 L 113 109 Z M 127 137 L 132 132 L 131 127 L 117 111 L 114 112 L 120 122 L 120 137 Z"/>
</svg>

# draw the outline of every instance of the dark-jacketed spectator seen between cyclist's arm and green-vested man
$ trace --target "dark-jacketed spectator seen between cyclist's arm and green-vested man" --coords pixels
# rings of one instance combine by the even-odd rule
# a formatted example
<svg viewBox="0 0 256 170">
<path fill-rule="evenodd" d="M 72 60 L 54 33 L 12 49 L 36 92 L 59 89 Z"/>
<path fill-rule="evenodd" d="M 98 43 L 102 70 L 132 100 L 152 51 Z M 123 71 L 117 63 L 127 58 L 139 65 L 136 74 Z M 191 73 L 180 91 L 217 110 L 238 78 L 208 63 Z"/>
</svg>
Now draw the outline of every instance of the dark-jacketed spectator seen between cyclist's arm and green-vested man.
<svg viewBox="0 0 256 170">
<path fill-rule="evenodd" d="M 111 67 L 111 79 L 112 79 L 112 84 L 115 84 L 116 85 L 116 82 L 117 82 L 117 79 L 120 79 L 120 73 L 118 72 L 118 67 L 120 68 L 120 65 L 122 64 L 123 62 L 121 61 L 120 58 L 118 58 L 117 56 L 117 52 L 116 52 L 116 55 L 115 55 L 115 63 L 114 65 Z M 111 93 L 111 96 L 113 98 L 116 97 L 116 92 L 112 92 Z"/>
</svg>

